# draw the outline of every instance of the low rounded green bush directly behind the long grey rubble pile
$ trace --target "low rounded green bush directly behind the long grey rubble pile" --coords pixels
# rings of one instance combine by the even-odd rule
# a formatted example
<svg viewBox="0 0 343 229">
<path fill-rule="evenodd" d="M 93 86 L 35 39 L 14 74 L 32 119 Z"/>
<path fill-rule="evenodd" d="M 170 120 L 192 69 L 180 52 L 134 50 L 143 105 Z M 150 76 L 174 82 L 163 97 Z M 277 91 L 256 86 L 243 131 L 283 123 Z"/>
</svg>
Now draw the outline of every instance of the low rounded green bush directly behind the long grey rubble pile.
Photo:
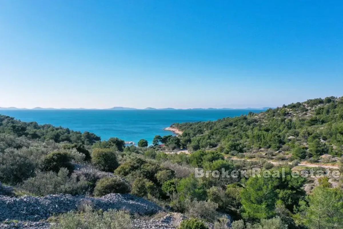
<svg viewBox="0 0 343 229">
<path fill-rule="evenodd" d="M 104 177 L 96 182 L 94 196 L 104 196 L 110 193 L 129 193 L 130 189 L 130 185 L 118 177 Z"/>
</svg>

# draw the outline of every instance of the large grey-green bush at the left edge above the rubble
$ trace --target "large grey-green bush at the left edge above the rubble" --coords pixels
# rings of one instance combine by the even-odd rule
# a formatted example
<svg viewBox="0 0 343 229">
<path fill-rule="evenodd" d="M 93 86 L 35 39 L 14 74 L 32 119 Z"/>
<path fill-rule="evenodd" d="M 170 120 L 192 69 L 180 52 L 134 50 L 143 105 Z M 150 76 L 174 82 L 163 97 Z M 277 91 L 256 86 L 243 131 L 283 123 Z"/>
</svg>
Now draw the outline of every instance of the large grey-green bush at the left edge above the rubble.
<svg viewBox="0 0 343 229">
<path fill-rule="evenodd" d="M 31 160 L 18 151 L 0 153 L 0 180 L 16 184 L 34 175 L 35 166 Z"/>
</svg>

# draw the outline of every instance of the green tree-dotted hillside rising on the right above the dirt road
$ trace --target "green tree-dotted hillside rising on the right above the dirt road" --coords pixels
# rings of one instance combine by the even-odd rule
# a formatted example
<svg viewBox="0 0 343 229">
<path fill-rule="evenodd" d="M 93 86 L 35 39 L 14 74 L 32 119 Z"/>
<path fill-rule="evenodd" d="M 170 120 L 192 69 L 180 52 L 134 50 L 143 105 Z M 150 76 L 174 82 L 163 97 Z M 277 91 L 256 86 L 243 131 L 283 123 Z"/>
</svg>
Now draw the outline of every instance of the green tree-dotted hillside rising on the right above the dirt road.
<svg viewBox="0 0 343 229">
<path fill-rule="evenodd" d="M 217 148 L 236 155 L 271 149 L 305 149 L 299 159 L 343 153 L 343 98 L 312 99 L 261 113 L 213 122 L 175 123 L 181 143 L 190 149 Z"/>
</svg>

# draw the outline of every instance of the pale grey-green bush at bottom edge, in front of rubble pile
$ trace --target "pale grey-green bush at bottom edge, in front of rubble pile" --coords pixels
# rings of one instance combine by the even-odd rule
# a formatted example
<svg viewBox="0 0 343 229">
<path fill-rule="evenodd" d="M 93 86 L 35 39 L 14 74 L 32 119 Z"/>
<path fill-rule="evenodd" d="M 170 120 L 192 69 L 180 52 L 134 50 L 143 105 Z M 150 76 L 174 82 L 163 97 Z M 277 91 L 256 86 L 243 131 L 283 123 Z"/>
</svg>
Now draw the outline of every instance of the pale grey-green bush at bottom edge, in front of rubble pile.
<svg viewBox="0 0 343 229">
<path fill-rule="evenodd" d="M 92 211 L 90 206 L 85 207 L 83 214 L 66 213 L 59 217 L 57 224 L 51 229 L 130 229 L 132 219 L 124 211 L 108 210 L 103 214 Z"/>
</svg>

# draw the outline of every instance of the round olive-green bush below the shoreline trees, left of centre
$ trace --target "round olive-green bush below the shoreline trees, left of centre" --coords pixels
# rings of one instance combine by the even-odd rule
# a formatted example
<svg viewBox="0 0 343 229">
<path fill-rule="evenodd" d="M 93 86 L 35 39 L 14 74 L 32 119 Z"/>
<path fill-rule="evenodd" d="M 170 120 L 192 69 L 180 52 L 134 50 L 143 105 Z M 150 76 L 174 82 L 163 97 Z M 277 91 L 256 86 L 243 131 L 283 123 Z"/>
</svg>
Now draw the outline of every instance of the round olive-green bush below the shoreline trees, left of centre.
<svg viewBox="0 0 343 229">
<path fill-rule="evenodd" d="M 92 163 L 97 169 L 105 172 L 113 172 L 119 166 L 117 156 L 112 149 L 93 149 Z"/>
</svg>

